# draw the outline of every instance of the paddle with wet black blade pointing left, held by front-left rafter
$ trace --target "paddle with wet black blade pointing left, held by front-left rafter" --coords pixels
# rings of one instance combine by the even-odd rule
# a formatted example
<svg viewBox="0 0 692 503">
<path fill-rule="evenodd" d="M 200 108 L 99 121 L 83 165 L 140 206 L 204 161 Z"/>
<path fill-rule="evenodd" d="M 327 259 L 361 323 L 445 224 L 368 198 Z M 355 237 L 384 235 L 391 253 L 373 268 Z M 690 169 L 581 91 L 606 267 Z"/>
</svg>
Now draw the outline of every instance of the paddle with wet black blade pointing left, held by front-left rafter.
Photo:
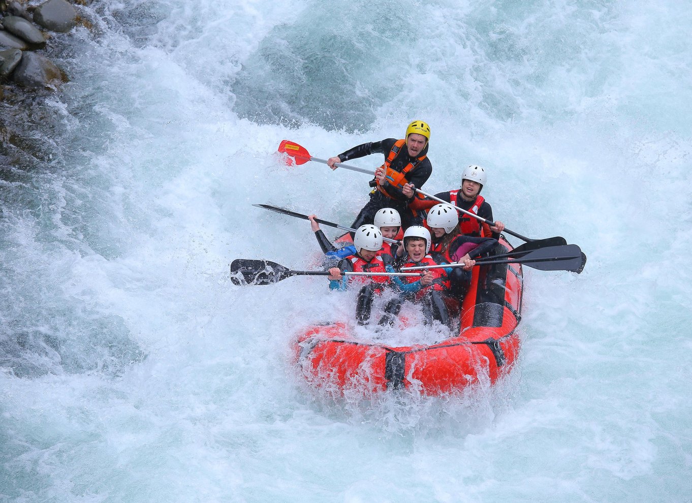
<svg viewBox="0 0 692 503">
<path fill-rule="evenodd" d="M 415 276 L 421 273 L 351 273 L 342 271 L 345 276 Z M 239 277 L 239 276 L 242 276 Z M 270 260 L 235 259 L 230 264 L 230 281 L 236 285 L 274 284 L 291 276 L 329 276 L 329 271 L 291 271 L 291 269 Z"/>
</svg>

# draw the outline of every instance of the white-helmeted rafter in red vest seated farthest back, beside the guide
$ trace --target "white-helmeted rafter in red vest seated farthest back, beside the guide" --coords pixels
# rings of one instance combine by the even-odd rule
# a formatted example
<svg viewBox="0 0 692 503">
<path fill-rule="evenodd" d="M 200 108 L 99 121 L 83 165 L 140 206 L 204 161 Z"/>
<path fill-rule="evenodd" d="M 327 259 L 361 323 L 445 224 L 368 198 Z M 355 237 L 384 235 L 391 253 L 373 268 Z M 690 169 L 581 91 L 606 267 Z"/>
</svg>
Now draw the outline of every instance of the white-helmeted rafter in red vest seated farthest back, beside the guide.
<svg viewBox="0 0 692 503">
<path fill-rule="evenodd" d="M 480 195 L 487 182 L 487 173 L 484 167 L 478 165 L 470 165 L 462 171 L 461 187 L 456 190 L 448 190 L 435 194 L 437 199 L 451 203 L 452 205 L 462 208 L 488 221 L 493 221 L 493 208 Z M 408 190 L 404 190 L 404 193 Z M 413 194 L 413 192 L 411 192 Z M 414 199 L 411 203 L 411 208 L 414 210 L 427 210 L 432 208 L 439 201 L 433 199 Z M 489 226 L 487 223 L 481 223 L 480 220 L 470 217 L 467 214 L 459 216 L 459 230 L 462 234 L 476 237 L 493 237 L 498 239 L 500 232 L 504 230 L 504 223 L 495 221 L 494 226 Z"/>
</svg>

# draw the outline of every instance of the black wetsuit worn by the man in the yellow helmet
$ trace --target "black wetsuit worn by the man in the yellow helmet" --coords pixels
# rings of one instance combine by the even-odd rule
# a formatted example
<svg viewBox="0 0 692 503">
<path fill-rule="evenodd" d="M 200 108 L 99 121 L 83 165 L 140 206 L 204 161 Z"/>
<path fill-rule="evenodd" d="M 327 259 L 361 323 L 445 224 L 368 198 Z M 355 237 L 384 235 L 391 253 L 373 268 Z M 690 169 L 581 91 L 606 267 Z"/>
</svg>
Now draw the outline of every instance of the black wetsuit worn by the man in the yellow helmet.
<svg viewBox="0 0 692 503">
<path fill-rule="evenodd" d="M 343 154 L 339 154 L 339 158 L 342 163 L 351 159 L 369 156 L 370 154 L 383 154 L 386 159 L 394 143 L 397 143 L 397 140 L 394 140 L 394 138 L 387 138 L 372 143 L 363 143 L 363 145 L 358 145 L 357 147 L 347 150 Z M 425 148 L 421 150 L 419 156 L 428 153 L 428 145 L 429 144 L 426 144 Z M 399 155 L 390 163 L 390 168 L 401 173 L 403 168 L 415 161 L 416 158 L 409 156 L 408 148 L 406 145 L 403 145 L 401 150 L 399 150 Z M 430 178 L 430 174 L 432 174 L 432 163 L 430 163 L 430 159 L 426 157 L 414 170 L 406 174 L 406 179 L 408 183 L 412 183 L 416 188 L 421 188 Z M 397 210 L 401 216 L 401 226 L 404 230 L 410 226 L 421 225 L 423 222 L 421 213 L 414 212 L 408 207 L 408 204 L 413 200 L 412 197 L 406 197 L 403 192 L 401 192 L 400 188 L 394 187 L 389 181 L 385 181 L 383 189 L 386 190 L 388 194 L 391 194 L 392 197 L 386 196 L 379 190 L 371 192 L 370 201 L 368 201 L 361 212 L 358 213 L 358 217 L 356 217 L 354 223 L 351 225 L 352 228 L 357 229 L 365 223 L 372 223 L 375 213 L 382 208 L 394 208 L 394 210 Z"/>
</svg>

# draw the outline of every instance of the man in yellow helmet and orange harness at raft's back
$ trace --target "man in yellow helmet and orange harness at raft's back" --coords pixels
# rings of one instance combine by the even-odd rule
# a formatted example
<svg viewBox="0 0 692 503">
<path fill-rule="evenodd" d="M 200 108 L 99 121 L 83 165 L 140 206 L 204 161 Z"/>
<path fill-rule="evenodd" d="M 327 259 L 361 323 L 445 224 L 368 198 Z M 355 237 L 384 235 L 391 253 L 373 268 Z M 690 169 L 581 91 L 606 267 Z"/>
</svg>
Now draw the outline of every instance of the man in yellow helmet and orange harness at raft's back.
<svg viewBox="0 0 692 503">
<path fill-rule="evenodd" d="M 387 138 L 378 142 L 363 143 L 343 154 L 331 157 L 327 165 L 336 170 L 336 163 L 344 163 L 370 154 L 383 154 L 385 163 L 375 170 L 375 178 L 370 181 L 374 190 L 370 193 L 370 201 L 363 207 L 351 227 L 357 229 L 365 223 L 372 223 L 374 215 L 382 208 L 394 208 L 401 215 L 401 226 L 404 230 L 412 225 L 419 225 L 422 216 L 416 210 L 409 208 L 415 188 L 421 188 L 432 174 L 432 164 L 428 159 L 428 143 L 430 142 L 430 126 L 422 120 L 414 120 L 406 129 L 403 140 Z"/>
</svg>

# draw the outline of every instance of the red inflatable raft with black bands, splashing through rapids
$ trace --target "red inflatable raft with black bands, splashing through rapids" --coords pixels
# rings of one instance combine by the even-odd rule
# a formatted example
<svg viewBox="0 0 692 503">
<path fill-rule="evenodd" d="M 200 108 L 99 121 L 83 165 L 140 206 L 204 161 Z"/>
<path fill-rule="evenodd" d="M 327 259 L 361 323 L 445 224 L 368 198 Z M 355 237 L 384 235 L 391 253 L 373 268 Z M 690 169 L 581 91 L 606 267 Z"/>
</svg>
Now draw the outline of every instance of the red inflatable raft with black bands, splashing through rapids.
<svg viewBox="0 0 692 503">
<path fill-rule="evenodd" d="M 500 239 L 495 254 L 511 249 Z M 428 346 L 389 347 L 358 340 L 346 323 L 327 323 L 300 333 L 295 363 L 309 383 L 329 392 L 370 395 L 405 388 L 438 395 L 481 378 L 494 383 L 518 356 L 522 283 L 520 264 L 475 267 L 458 336 Z"/>
</svg>

